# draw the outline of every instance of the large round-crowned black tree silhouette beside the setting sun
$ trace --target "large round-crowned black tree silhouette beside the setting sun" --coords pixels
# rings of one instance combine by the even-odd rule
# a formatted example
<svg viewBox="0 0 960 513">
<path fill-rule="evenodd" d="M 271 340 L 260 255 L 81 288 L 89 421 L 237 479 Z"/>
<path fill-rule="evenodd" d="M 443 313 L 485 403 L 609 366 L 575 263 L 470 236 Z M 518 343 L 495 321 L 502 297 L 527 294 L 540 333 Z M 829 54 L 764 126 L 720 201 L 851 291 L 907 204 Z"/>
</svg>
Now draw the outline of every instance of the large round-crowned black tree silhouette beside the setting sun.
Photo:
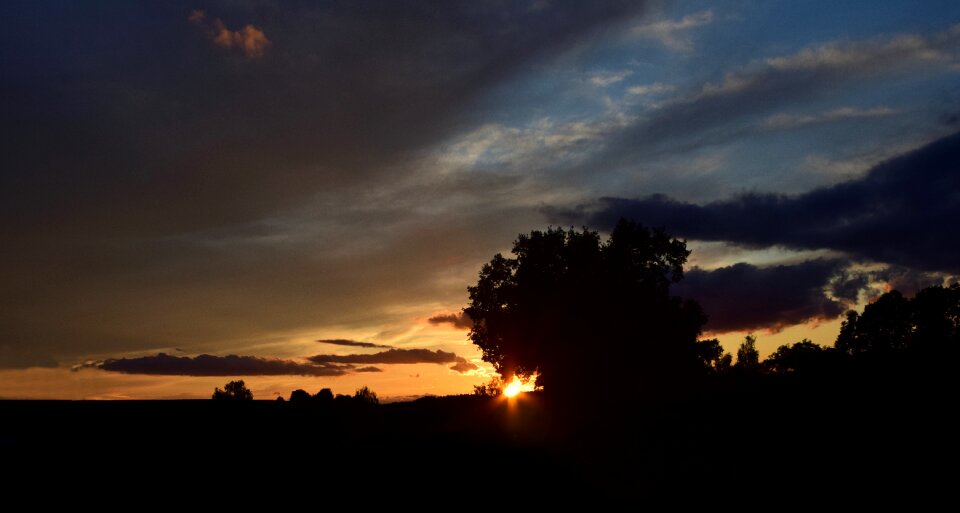
<svg viewBox="0 0 960 513">
<path fill-rule="evenodd" d="M 583 229 L 533 231 L 468 287 L 470 338 L 506 379 L 547 392 L 663 391 L 702 371 L 699 305 L 670 295 L 686 243 L 621 220 L 603 242 Z M 651 386 L 655 385 L 655 386 Z"/>
</svg>

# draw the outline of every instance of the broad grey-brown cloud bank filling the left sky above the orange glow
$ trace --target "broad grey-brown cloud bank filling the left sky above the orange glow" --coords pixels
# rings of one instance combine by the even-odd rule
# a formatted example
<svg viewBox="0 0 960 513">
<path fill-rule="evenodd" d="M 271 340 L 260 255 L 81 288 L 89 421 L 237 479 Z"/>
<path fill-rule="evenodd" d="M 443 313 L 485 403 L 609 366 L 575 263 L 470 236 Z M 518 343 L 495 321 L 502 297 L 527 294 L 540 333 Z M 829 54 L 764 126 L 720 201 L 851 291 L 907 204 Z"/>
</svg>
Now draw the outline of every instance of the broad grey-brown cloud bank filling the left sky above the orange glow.
<svg viewBox="0 0 960 513">
<path fill-rule="evenodd" d="M 383 184 L 409 182 L 424 149 L 473 127 L 492 87 L 641 7 L 217 5 L 0 3 L 0 368 L 239 351 L 435 300 L 425 276 L 510 236 L 499 216 L 516 207 L 491 198 L 517 179 Z M 463 191 L 497 216 L 409 208 Z"/>
</svg>

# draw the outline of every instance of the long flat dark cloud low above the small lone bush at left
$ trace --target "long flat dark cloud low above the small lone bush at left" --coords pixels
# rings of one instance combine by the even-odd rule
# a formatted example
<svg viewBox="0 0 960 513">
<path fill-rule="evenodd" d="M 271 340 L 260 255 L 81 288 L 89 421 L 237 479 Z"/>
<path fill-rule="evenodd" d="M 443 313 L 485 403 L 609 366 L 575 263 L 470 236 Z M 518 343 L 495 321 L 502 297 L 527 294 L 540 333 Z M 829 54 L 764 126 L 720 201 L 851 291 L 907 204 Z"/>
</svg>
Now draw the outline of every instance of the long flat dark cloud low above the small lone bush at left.
<svg viewBox="0 0 960 513">
<path fill-rule="evenodd" d="M 310 364 L 293 360 L 260 358 L 257 356 L 213 356 L 202 354 L 195 357 L 156 356 L 139 358 L 108 359 L 103 362 L 88 362 L 80 367 L 95 367 L 105 371 L 125 374 L 155 374 L 164 376 L 342 376 L 351 367 L 329 364 Z M 74 367 L 77 370 L 79 367 Z"/>
</svg>

